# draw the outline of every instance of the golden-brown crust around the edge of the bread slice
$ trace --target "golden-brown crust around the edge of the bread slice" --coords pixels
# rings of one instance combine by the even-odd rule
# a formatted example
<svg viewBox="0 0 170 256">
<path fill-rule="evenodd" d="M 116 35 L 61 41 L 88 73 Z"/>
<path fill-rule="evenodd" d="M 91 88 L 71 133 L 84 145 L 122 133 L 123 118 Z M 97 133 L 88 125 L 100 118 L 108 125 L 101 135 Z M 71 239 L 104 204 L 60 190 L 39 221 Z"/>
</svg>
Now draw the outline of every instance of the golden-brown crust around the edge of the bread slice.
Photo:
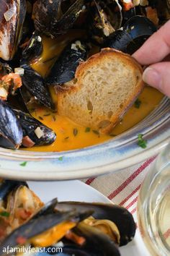
<svg viewBox="0 0 170 256">
<path fill-rule="evenodd" d="M 101 63 L 101 61 L 107 61 L 108 58 L 110 59 L 115 57 L 118 58 L 120 62 L 125 64 L 126 67 L 129 67 L 129 69 L 134 70 L 134 73 L 138 72 L 140 75 L 138 82 L 135 85 L 133 92 L 131 93 L 131 97 L 126 100 L 126 106 L 123 109 L 120 108 L 119 111 L 117 111 L 117 114 L 111 116 L 111 118 L 109 119 L 110 124 L 108 124 L 106 127 L 99 128 L 99 132 L 104 134 L 112 132 L 112 129 L 115 127 L 117 123 L 120 122 L 122 116 L 126 113 L 126 111 L 128 111 L 128 108 L 130 108 L 130 106 L 133 105 L 134 101 L 136 100 L 136 98 L 138 98 L 138 95 L 142 92 L 144 87 L 144 82 L 142 81 L 143 69 L 140 66 L 140 64 L 138 64 L 138 62 L 135 61 L 135 59 L 133 59 L 132 56 L 124 54 L 121 51 L 117 51 L 113 48 L 103 48 L 102 51 L 100 51 L 98 54 L 94 54 L 89 59 L 87 59 L 87 61 L 84 61 L 81 64 L 79 64 L 79 67 L 77 67 L 76 69 L 75 79 L 71 82 L 68 82 L 67 85 L 63 85 L 63 89 L 60 88 L 60 90 L 57 90 L 58 114 L 66 115 L 70 119 L 72 119 L 71 114 L 68 115 L 68 111 L 67 113 L 63 113 L 62 111 L 63 98 L 65 96 L 67 97 L 67 95 L 72 95 L 72 93 L 77 93 L 79 92 L 79 90 L 81 90 L 81 87 L 84 86 L 84 74 L 86 73 L 86 70 L 97 66 Z M 80 115 L 82 115 L 81 110 L 77 109 L 77 111 L 80 112 Z M 82 118 L 84 117 L 82 116 Z M 100 119 L 102 119 L 102 116 L 100 116 Z M 73 119 L 73 121 L 76 120 Z M 96 129 L 97 125 L 91 123 L 91 127 L 94 127 Z"/>
</svg>

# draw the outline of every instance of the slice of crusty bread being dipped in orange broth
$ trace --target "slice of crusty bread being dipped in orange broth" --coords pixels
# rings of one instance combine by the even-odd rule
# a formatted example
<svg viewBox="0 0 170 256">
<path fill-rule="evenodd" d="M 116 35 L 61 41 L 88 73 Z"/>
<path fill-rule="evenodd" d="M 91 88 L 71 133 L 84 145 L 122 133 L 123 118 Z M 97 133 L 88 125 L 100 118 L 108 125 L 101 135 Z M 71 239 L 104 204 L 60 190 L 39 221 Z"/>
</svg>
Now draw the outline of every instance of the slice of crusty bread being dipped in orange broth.
<svg viewBox="0 0 170 256">
<path fill-rule="evenodd" d="M 58 114 L 109 133 L 143 89 L 142 73 L 128 54 L 104 48 L 79 64 L 74 80 L 57 88 Z"/>
</svg>

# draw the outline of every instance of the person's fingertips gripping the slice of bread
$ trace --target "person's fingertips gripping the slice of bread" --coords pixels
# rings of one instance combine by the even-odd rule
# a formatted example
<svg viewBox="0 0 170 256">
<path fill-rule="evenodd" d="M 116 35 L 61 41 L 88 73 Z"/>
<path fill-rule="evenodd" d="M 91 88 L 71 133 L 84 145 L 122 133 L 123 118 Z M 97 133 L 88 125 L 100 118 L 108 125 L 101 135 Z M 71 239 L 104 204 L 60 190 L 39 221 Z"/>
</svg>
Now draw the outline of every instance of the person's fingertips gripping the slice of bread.
<svg viewBox="0 0 170 256">
<path fill-rule="evenodd" d="M 143 81 L 170 97 L 170 61 L 166 61 L 169 54 L 170 20 L 151 35 L 133 57 L 148 66 L 143 72 Z"/>
</svg>

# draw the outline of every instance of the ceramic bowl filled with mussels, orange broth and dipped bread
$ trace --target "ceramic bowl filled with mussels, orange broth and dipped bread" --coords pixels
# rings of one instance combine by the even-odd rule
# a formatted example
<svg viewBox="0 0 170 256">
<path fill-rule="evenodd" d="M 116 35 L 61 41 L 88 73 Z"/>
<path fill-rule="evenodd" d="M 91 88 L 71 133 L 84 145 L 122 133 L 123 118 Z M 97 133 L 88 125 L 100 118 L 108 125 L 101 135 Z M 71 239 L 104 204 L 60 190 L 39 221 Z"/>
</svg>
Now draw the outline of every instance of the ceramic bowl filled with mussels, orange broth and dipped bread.
<svg viewBox="0 0 170 256">
<path fill-rule="evenodd" d="M 156 155 L 170 101 L 130 55 L 169 17 L 168 0 L 3 0 L 1 176 L 77 179 Z"/>
</svg>

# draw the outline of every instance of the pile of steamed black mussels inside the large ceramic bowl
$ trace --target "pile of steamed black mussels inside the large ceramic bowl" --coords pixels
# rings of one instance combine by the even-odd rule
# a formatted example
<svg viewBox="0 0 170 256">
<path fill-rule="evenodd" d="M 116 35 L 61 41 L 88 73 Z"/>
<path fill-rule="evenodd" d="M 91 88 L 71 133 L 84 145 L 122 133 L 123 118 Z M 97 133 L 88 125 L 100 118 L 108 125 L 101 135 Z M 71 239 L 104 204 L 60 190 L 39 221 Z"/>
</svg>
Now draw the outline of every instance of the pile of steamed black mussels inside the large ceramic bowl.
<svg viewBox="0 0 170 256">
<path fill-rule="evenodd" d="M 0 9 L 0 146 L 17 149 L 49 145 L 55 132 L 30 115 L 33 103 L 57 111 L 50 86 L 62 88 L 76 67 L 104 47 L 128 54 L 169 19 L 166 0 L 2 0 Z M 42 35 L 50 38 L 83 30 L 54 61 L 43 78 L 32 62 L 42 54 Z M 58 90 L 59 90 L 58 89 Z M 56 90 L 56 92 L 58 91 Z"/>
</svg>

